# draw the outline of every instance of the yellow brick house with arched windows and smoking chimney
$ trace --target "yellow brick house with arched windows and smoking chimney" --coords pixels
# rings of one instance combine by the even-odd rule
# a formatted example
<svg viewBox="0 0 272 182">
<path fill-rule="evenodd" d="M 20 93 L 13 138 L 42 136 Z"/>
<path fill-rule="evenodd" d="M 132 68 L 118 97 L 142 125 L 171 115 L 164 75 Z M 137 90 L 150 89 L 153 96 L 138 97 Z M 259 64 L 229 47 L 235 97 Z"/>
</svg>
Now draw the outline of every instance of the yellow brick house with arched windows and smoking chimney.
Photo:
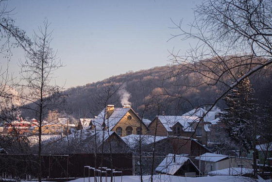
<svg viewBox="0 0 272 182">
<path fill-rule="evenodd" d="M 128 105 L 121 108 L 107 105 L 94 119 L 94 124 L 96 127 L 117 132 L 121 137 L 130 134 L 147 134 L 149 131 L 141 118 Z"/>
</svg>

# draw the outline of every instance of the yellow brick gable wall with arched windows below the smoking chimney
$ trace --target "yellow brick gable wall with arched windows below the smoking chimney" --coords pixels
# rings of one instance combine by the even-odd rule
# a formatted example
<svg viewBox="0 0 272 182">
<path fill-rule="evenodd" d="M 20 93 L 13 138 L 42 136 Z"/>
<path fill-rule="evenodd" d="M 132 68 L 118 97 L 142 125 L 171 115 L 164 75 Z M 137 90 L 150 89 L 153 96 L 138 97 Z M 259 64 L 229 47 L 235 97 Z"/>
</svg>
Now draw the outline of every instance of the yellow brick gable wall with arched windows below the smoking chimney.
<svg viewBox="0 0 272 182">
<path fill-rule="evenodd" d="M 127 116 L 132 116 L 131 120 L 127 119 Z M 122 128 L 122 136 L 127 135 L 126 128 L 130 126 L 132 127 L 132 134 L 137 134 L 137 128 L 141 126 L 141 121 L 140 119 L 131 111 L 129 110 L 125 116 L 122 117 L 122 119 L 119 121 L 117 125 L 112 129 L 112 131 L 117 132 L 117 128 L 121 127 Z M 147 128 L 144 126 L 142 123 L 142 134 L 147 134 Z"/>
</svg>

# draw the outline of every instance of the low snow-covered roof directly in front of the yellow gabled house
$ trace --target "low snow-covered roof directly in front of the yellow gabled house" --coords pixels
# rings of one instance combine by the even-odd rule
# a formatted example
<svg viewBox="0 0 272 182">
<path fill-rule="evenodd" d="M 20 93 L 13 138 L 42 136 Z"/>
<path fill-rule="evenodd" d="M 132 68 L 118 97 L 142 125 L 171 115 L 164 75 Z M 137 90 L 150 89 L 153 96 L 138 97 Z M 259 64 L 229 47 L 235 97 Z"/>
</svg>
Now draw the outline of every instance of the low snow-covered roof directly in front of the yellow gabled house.
<svg viewBox="0 0 272 182">
<path fill-rule="evenodd" d="M 153 135 L 141 135 L 141 144 L 149 145 L 154 142 Z M 167 136 L 156 136 L 155 142 L 163 140 L 167 138 Z M 121 138 L 130 148 L 134 149 L 137 145 L 139 145 L 140 135 L 138 134 L 130 134 Z"/>
</svg>

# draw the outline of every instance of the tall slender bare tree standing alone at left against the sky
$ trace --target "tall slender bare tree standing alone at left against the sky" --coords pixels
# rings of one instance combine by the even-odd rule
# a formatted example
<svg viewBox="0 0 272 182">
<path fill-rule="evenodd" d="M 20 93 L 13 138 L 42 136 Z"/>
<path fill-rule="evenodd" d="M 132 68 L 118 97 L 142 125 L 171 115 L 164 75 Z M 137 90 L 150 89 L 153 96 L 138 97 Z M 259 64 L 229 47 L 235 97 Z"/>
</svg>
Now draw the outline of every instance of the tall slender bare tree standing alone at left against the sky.
<svg viewBox="0 0 272 182">
<path fill-rule="evenodd" d="M 52 84 L 54 71 L 63 65 L 50 47 L 52 32 L 49 32 L 49 26 L 45 21 L 44 26 L 39 27 L 39 34 L 34 32 L 34 47 L 31 52 L 26 53 L 25 62 L 20 61 L 21 81 L 14 85 L 21 91 L 19 96 L 15 96 L 21 100 L 21 108 L 32 112 L 38 120 L 39 181 L 42 175 L 43 120 L 50 109 L 55 109 L 64 100 L 62 88 Z"/>
</svg>

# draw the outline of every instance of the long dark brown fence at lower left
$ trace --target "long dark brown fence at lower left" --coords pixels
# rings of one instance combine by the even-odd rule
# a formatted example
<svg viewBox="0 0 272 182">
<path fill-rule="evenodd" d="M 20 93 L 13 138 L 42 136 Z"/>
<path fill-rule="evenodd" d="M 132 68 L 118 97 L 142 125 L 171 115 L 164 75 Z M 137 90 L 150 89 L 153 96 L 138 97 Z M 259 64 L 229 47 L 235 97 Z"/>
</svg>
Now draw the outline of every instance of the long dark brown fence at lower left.
<svg viewBox="0 0 272 182">
<path fill-rule="evenodd" d="M 69 154 L 42 155 L 42 178 L 82 178 L 84 166 L 108 167 L 122 171 L 123 175 L 133 174 L 131 153 L 110 154 Z M 112 165 L 111 165 L 112 159 Z M 0 155 L 0 174 L 2 178 L 36 179 L 38 177 L 37 155 Z"/>
</svg>

